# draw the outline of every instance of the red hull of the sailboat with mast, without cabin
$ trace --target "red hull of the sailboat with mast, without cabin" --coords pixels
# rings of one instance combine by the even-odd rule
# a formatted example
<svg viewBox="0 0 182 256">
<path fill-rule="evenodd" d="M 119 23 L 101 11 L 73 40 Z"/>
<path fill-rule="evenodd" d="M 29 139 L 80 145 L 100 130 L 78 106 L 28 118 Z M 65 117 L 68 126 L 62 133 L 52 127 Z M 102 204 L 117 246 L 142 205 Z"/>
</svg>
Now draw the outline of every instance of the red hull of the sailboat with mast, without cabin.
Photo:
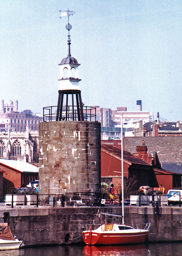
<svg viewBox="0 0 182 256">
<path fill-rule="evenodd" d="M 144 243 L 148 230 L 119 230 L 117 231 L 83 231 L 82 237 L 87 245 L 94 244 L 140 244 Z"/>
</svg>

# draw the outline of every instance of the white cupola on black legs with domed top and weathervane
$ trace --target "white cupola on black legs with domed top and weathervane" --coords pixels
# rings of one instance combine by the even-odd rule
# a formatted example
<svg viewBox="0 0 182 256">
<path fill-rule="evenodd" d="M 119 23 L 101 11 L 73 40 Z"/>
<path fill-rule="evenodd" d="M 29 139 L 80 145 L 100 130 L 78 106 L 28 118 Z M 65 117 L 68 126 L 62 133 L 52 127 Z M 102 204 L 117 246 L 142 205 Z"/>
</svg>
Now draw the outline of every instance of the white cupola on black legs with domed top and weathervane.
<svg viewBox="0 0 182 256">
<path fill-rule="evenodd" d="M 78 67 L 80 64 L 77 59 L 71 56 L 71 39 L 69 31 L 72 26 L 69 23 L 69 16 L 72 15 L 72 11 L 61 12 L 61 17 L 68 16 L 68 24 L 66 29 L 68 30 L 68 56 L 63 58 L 60 65 L 60 87 L 59 87 L 59 97 L 57 104 L 57 115 L 56 120 L 72 120 L 78 119 L 79 121 L 84 121 L 83 108 L 82 108 L 82 98 L 81 90 L 79 89 L 79 82 L 81 79 L 78 77 Z M 66 14 L 66 15 L 65 15 Z M 63 16 L 64 15 L 64 16 Z M 63 102 L 65 96 L 65 104 Z M 69 105 L 69 99 L 71 104 Z M 74 100 L 75 99 L 75 100 Z M 74 105 L 74 102 L 75 105 Z M 71 114 L 70 114 L 71 113 Z"/>
</svg>

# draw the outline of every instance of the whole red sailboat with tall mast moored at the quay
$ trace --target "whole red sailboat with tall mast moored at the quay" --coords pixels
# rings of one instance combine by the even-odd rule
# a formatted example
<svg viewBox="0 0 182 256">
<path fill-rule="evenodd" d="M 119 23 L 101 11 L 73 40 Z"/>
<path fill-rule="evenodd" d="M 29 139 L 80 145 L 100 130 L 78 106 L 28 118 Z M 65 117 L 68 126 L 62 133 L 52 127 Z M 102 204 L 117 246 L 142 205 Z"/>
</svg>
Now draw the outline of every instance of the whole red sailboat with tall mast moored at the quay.
<svg viewBox="0 0 182 256">
<path fill-rule="evenodd" d="M 121 116 L 122 123 L 122 116 Z M 122 125 L 121 125 L 121 134 L 122 134 Z M 123 189 L 123 143 L 121 136 L 121 162 L 122 162 L 122 202 L 124 201 L 124 189 Z M 144 243 L 148 232 L 149 224 L 145 224 L 144 229 L 139 229 L 127 226 L 124 224 L 124 204 L 122 203 L 122 215 L 114 215 L 108 213 L 102 213 L 105 215 L 113 215 L 117 217 L 122 217 L 122 224 L 102 224 L 95 230 L 92 230 L 91 227 L 87 231 L 82 232 L 82 237 L 87 245 L 94 244 L 140 244 Z"/>
</svg>

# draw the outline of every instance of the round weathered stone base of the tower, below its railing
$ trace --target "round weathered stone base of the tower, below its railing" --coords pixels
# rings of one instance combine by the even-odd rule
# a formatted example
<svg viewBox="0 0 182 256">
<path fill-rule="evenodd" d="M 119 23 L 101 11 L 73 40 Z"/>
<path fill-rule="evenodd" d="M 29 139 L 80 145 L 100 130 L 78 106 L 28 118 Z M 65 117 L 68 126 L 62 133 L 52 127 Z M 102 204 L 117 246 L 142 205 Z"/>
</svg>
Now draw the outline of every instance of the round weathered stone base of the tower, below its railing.
<svg viewBox="0 0 182 256">
<path fill-rule="evenodd" d="M 42 122 L 39 146 L 40 200 L 48 200 L 46 195 L 58 200 L 63 194 L 67 206 L 98 205 L 100 123 Z"/>
</svg>

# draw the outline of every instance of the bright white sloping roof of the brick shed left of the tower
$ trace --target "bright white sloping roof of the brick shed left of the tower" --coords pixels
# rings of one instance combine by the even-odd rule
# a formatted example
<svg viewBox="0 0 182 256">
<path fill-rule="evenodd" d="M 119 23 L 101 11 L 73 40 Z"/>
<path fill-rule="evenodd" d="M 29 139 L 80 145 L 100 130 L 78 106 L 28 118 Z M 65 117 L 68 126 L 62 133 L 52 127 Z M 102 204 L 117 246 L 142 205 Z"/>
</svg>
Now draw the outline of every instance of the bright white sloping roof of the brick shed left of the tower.
<svg viewBox="0 0 182 256">
<path fill-rule="evenodd" d="M 0 164 L 9 166 L 10 168 L 13 168 L 19 172 L 39 172 L 37 166 L 23 161 L 0 159 Z"/>
</svg>

